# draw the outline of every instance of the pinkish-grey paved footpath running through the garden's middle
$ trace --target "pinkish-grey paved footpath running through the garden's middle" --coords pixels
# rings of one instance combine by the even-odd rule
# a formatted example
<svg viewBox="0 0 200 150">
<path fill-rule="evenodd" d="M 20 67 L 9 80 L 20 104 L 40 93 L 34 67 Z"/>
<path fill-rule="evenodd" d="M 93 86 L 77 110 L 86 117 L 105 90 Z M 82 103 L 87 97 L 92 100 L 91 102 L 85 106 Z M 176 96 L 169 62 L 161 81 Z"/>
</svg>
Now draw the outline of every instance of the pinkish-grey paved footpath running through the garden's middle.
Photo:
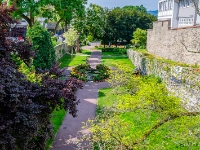
<svg viewBox="0 0 200 150">
<path fill-rule="evenodd" d="M 97 64 L 101 62 L 101 51 L 92 50 L 91 47 L 85 47 L 92 51 L 88 64 L 92 68 L 96 68 Z M 54 140 L 52 150 L 77 150 L 83 149 L 80 146 L 86 143 L 80 143 L 79 137 L 82 135 L 90 134 L 89 130 L 83 130 L 83 122 L 95 117 L 95 110 L 98 98 L 98 90 L 101 88 L 109 87 L 107 82 L 87 82 L 83 84 L 83 89 L 79 89 L 76 93 L 77 99 L 80 99 L 78 105 L 78 117 L 73 118 L 67 114 L 63 120 L 60 130 L 58 131 Z M 89 149 L 85 147 L 84 149 Z"/>
</svg>

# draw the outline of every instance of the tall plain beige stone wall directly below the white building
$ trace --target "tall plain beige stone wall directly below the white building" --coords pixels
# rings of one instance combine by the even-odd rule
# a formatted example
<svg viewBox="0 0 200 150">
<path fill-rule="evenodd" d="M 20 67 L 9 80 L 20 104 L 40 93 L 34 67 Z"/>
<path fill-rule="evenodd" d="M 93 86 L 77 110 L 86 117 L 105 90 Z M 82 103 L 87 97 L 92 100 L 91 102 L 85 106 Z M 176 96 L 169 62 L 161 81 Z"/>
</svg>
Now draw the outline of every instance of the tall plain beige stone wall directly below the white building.
<svg viewBox="0 0 200 150">
<path fill-rule="evenodd" d="M 154 22 L 148 30 L 149 53 L 186 64 L 200 65 L 200 26 L 169 29 L 168 21 Z"/>
</svg>

